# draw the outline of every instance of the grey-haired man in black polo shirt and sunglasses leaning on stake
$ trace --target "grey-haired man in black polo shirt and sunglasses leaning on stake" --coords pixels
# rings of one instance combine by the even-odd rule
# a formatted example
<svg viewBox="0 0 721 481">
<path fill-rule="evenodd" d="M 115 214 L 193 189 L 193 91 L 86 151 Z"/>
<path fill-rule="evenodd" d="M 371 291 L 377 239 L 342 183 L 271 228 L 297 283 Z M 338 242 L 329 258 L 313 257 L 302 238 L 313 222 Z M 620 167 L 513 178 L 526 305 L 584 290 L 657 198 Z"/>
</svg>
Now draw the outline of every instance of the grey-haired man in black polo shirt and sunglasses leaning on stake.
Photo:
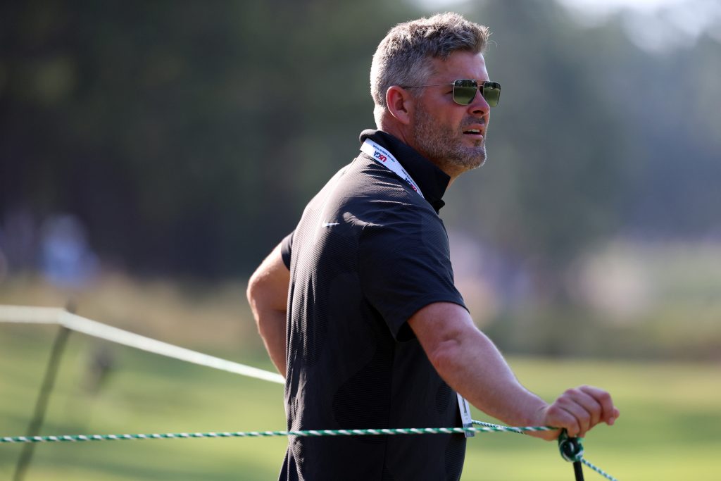
<svg viewBox="0 0 721 481">
<path fill-rule="evenodd" d="M 550 405 L 528 392 L 454 286 L 438 211 L 446 187 L 485 162 L 500 95 L 487 36 L 457 14 L 389 31 L 371 66 L 378 130 L 361 134 L 361 154 L 252 275 L 248 299 L 286 376 L 289 429 L 459 426 L 456 393 L 509 425 L 570 436 L 619 416 L 594 387 Z M 458 480 L 464 451 L 458 434 L 291 436 L 280 479 Z"/>
</svg>

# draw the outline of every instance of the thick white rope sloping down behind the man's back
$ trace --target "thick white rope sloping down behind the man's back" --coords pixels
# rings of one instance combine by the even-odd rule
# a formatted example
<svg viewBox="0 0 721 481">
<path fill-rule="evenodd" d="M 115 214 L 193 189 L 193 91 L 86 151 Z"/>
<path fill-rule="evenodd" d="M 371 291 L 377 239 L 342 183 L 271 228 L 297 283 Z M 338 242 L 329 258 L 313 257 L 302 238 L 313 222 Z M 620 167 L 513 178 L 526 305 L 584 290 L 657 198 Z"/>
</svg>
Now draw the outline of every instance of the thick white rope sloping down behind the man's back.
<svg viewBox="0 0 721 481">
<path fill-rule="evenodd" d="M 180 348 L 177 345 L 164 343 L 151 337 L 141 336 L 133 332 L 118 329 L 117 327 L 101 324 L 92 319 L 71 314 L 65 309 L 54 307 L 0 306 L 0 322 L 61 325 L 67 327 L 69 330 L 82 332 L 85 335 L 108 340 L 111 343 L 145 350 L 149 353 L 159 354 L 160 356 L 180 359 L 180 361 L 187 361 L 198 364 L 199 366 L 228 371 L 264 381 L 286 384 L 286 380 L 283 379 L 283 376 L 280 376 L 280 374 L 246 366 L 234 361 L 216 358 L 215 356 L 208 356 L 208 354 L 198 353 L 195 350 Z"/>
</svg>

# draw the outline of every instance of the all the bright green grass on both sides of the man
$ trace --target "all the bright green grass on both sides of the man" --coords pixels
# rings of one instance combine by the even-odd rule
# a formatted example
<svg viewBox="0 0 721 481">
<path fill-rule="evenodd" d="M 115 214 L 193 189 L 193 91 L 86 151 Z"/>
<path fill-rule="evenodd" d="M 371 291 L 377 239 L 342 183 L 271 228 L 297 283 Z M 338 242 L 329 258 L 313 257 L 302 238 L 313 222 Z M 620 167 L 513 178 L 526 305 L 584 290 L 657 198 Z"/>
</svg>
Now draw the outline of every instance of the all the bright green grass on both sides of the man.
<svg viewBox="0 0 721 481">
<path fill-rule="evenodd" d="M 25 433 L 55 332 L 0 324 L 0 436 Z M 114 369 L 98 387 L 89 366 L 99 349 L 112 350 Z M 214 354 L 271 369 L 262 356 Z M 721 450 L 717 364 L 543 358 L 510 358 L 510 363 L 523 384 L 548 400 L 578 384 L 596 384 L 614 394 L 622 417 L 585 440 L 586 458 L 611 475 L 620 480 L 715 477 Z M 42 433 L 280 430 L 285 428 L 282 391 L 277 384 L 75 333 Z M 285 445 L 283 438 L 42 444 L 35 446 L 26 480 L 272 480 Z M 0 479 L 10 479 L 20 449 L 0 444 Z M 585 471 L 588 480 L 602 479 Z M 573 479 L 572 468 L 554 443 L 508 433 L 469 440 L 464 481 L 565 479 Z"/>
</svg>

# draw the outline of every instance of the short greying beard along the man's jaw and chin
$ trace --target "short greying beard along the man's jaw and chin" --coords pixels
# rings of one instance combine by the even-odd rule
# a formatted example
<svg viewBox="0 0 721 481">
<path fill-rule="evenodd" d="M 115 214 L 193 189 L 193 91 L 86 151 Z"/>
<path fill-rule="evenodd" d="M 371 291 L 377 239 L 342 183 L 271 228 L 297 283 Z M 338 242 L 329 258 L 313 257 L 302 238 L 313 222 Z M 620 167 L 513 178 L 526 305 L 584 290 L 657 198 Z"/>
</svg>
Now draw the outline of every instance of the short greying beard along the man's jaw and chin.
<svg viewBox="0 0 721 481">
<path fill-rule="evenodd" d="M 468 124 L 477 122 L 477 119 L 472 119 Z M 466 147 L 462 144 L 463 133 L 454 131 L 448 125 L 438 125 L 422 107 L 415 109 L 413 123 L 416 149 L 439 167 L 447 166 L 454 171 L 465 172 L 486 162 L 485 136 L 474 142 L 474 146 Z"/>
</svg>

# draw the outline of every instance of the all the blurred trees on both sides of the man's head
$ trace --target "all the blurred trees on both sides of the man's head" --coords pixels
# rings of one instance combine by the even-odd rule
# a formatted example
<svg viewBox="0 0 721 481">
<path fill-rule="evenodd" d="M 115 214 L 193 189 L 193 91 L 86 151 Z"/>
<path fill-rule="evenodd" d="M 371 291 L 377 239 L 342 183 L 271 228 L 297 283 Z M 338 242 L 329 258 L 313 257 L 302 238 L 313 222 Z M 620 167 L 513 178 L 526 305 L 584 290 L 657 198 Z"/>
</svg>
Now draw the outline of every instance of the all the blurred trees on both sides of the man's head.
<svg viewBox="0 0 721 481">
<path fill-rule="evenodd" d="M 619 18 L 581 27 L 535 0 L 463 8 L 494 32 L 504 94 L 487 166 L 448 193 L 450 226 L 552 291 L 616 231 L 721 231 L 716 40 L 656 56 Z M 373 126 L 372 53 L 418 15 L 382 0 L 1 4 L 0 229 L 15 209 L 66 211 L 135 273 L 247 272 L 355 156 Z"/>
</svg>

